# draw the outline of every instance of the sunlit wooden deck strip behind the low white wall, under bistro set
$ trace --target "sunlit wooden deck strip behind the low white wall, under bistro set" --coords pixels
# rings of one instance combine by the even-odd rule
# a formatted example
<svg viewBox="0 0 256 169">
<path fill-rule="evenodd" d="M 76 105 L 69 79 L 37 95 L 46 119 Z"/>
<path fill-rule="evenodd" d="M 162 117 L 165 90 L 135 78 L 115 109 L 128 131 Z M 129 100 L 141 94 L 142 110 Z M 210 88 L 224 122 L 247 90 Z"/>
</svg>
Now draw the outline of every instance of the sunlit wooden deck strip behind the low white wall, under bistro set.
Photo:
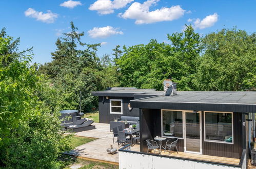
<svg viewBox="0 0 256 169">
<path fill-rule="evenodd" d="M 140 145 L 133 145 L 131 148 L 131 151 L 140 151 Z M 211 162 L 222 162 L 222 163 L 234 164 L 234 165 L 238 165 L 240 162 L 240 159 L 237 159 L 237 158 L 208 156 L 208 155 L 184 153 L 184 152 L 178 152 L 178 153 L 172 151 L 172 153 L 169 155 L 168 152 L 162 151 L 161 155 L 167 155 L 167 156 L 171 156 L 171 157 L 189 158 L 189 159 L 195 159 L 195 160 L 205 160 L 205 161 L 211 161 Z M 159 153 L 156 151 L 155 154 L 159 154 Z"/>
</svg>

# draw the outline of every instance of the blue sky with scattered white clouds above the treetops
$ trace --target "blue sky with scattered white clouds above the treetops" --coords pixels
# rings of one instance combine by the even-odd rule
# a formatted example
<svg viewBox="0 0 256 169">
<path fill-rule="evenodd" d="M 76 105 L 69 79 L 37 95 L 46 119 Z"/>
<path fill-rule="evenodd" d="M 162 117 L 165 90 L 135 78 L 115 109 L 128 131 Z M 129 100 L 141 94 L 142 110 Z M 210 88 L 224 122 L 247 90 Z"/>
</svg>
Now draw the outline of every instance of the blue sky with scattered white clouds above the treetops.
<svg viewBox="0 0 256 169">
<path fill-rule="evenodd" d="M 0 28 L 21 37 L 19 49 L 33 47 L 33 61 L 44 64 L 71 20 L 85 32 L 84 42 L 103 43 L 97 52 L 102 57 L 116 45 L 147 44 L 151 38 L 168 43 L 167 33 L 182 32 L 185 24 L 202 35 L 233 26 L 255 32 L 255 7 L 256 1 L 2 0 Z"/>
</svg>

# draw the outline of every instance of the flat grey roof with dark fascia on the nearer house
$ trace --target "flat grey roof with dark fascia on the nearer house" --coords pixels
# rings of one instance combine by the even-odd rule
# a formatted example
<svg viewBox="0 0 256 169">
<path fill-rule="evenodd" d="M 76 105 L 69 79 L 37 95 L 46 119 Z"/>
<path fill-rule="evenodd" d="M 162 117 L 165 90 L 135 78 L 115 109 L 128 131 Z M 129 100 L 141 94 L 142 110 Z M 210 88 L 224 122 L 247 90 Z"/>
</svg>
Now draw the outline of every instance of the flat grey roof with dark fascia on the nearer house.
<svg viewBox="0 0 256 169">
<path fill-rule="evenodd" d="M 178 91 L 131 100 L 133 108 L 256 113 L 256 92 Z"/>
</svg>

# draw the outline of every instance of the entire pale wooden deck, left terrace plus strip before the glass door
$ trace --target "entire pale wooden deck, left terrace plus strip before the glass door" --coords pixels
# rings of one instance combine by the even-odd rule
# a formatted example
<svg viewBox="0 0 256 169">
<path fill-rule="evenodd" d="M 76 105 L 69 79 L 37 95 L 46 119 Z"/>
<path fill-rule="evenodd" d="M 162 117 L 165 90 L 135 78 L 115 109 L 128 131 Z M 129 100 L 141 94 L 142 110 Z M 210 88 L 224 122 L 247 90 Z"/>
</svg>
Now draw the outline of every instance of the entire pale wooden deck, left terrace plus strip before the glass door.
<svg viewBox="0 0 256 169">
<path fill-rule="evenodd" d="M 118 147 L 117 143 L 113 144 L 112 142 L 113 134 L 112 132 L 109 132 L 109 124 L 105 124 L 105 123 L 93 123 L 93 124 L 95 125 L 96 129 L 90 130 L 90 131 L 78 132 L 76 133 L 76 135 L 83 136 L 83 137 L 94 137 L 99 139 L 77 146 L 75 150 L 70 152 L 69 154 L 78 156 L 79 158 L 118 164 L 119 163 L 118 151 L 114 155 L 108 154 L 106 151 L 111 144 L 117 150 L 121 148 L 121 147 Z M 140 145 L 139 144 L 133 145 L 131 150 L 139 152 Z M 168 155 L 168 153 L 167 152 L 165 153 L 164 151 L 162 151 L 162 155 Z M 208 155 L 192 154 L 192 153 L 184 153 L 184 152 L 179 152 L 179 154 L 177 154 L 176 152 L 173 152 L 170 156 L 183 157 L 183 158 L 196 159 L 196 160 L 205 160 L 205 161 L 212 161 L 212 162 L 222 162 L 222 163 L 236 164 L 236 165 L 238 165 L 240 162 L 240 159 L 235 159 L 235 158 L 208 156 Z"/>
</svg>

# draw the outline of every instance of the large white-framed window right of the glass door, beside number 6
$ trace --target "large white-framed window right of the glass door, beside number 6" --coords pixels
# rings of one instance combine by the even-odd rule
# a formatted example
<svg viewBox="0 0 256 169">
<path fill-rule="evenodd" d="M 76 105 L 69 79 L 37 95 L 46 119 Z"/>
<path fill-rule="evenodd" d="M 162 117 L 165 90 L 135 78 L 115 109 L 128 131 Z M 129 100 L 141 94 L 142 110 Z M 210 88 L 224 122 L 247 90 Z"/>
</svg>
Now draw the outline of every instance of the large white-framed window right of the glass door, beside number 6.
<svg viewBox="0 0 256 169">
<path fill-rule="evenodd" d="M 205 141 L 233 143 L 233 114 L 205 112 Z"/>
</svg>

